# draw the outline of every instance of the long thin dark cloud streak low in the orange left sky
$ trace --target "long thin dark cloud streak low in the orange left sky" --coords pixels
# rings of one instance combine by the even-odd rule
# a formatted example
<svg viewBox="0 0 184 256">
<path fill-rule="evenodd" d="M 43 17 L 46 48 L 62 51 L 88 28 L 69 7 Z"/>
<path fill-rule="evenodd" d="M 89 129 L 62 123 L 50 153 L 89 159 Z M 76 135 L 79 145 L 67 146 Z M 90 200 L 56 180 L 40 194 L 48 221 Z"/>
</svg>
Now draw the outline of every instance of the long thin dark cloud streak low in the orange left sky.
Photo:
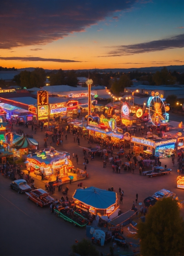
<svg viewBox="0 0 184 256">
<path fill-rule="evenodd" d="M 0 57 L 0 60 L 82 62 L 82 61 L 77 61 L 77 60 L 45 59 L 45 58 L 40 58 L 40 57 Z"/>
</svg>

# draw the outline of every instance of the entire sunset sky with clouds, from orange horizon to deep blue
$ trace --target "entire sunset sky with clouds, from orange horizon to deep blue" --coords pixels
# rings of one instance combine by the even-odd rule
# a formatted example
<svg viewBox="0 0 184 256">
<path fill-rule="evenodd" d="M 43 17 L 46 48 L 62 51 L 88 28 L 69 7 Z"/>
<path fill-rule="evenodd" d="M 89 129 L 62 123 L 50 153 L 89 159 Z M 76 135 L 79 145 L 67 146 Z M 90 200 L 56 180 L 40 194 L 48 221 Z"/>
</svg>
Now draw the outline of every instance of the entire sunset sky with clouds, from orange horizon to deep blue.
<svg viewBox="0 0 184 256">
<path fill-rule="evenodd" d="M 2 1 L 0 66 L 182 65 L 183 15 L 183 0 Z"/>
</svg>

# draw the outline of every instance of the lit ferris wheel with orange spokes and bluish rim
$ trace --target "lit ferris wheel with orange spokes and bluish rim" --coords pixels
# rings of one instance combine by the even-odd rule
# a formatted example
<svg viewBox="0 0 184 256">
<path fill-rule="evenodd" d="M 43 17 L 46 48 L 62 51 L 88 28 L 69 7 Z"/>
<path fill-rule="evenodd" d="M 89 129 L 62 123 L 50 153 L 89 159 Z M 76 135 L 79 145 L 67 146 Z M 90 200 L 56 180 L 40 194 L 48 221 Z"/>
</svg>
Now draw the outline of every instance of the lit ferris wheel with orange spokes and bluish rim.
<svg viewBox="0 0 184 256">
<path fill-rule="evenodd" d="M 165 115 L 166 111 L 163 100 L 159 96 L 153 97 L 149 104 L 149 117 L 153 125 L 157 126 L 165 122 Z"/>
</svg>

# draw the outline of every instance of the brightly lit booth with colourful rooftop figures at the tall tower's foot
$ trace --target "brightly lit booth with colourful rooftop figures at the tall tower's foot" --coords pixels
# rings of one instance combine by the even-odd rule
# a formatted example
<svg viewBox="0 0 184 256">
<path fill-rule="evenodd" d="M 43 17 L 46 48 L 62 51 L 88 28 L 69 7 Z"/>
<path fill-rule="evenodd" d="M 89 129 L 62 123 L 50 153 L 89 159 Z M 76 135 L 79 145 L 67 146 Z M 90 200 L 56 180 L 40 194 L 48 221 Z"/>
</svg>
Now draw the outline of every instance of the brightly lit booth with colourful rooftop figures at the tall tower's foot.
<svg viewBox="0 0 184 256">
<path fill-rule="evenodd" d="M 90 115 L 87 117 L 86 129 L 89 130 L 89 135 L 98 138 L 116 142 L 123 139 L 122 129 L 116 127 L 116 120 L 114 118 L 104 118 L 101 120 L 100 117 Z"/>
</svg>

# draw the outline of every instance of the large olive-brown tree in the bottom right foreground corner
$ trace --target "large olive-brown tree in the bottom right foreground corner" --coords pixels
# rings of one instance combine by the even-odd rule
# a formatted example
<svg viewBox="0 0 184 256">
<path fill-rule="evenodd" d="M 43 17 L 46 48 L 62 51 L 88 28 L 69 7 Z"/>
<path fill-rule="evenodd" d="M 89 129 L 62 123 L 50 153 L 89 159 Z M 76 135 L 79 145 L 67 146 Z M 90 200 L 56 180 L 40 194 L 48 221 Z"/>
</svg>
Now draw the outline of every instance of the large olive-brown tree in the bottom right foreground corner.
<svg viewBox="0 0 184 256">
<path fill-rule="evenodd" d="M 183 255 L 183 220 L 176 200 L 163 198 L 138 223 L 141 255 Z"/>
</svg>

